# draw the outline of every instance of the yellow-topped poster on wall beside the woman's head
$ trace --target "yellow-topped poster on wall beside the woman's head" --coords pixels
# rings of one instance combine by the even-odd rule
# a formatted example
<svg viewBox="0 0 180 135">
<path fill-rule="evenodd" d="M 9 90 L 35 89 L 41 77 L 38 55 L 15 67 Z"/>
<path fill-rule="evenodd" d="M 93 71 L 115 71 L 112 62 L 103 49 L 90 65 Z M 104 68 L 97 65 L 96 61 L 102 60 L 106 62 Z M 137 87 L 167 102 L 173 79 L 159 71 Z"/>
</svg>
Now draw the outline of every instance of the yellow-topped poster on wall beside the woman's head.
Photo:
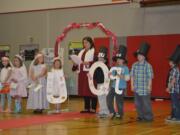
<svg viewBox="0 0 180 135">
<path fill-rule="evenodd" d="M 70 55 L 78 55 L 79 52 L 83 49 L 82 42 L 70 42 L 69 43 L 69 58 Z"/>
</svg>

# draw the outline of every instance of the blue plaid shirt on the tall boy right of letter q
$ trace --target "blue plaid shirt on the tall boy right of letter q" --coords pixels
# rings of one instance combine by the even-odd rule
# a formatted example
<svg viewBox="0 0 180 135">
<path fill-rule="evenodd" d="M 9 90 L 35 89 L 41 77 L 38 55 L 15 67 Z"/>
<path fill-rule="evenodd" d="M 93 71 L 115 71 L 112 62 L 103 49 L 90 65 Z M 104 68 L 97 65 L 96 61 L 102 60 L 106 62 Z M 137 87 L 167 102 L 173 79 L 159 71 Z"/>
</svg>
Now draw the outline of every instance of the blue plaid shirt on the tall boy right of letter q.
<svg viewBox="0 0 180 135">
<path fill-rule="evenodd" d="M 143 63 L 136 62 L 131 69 L 131 76 L 133 77 L 134 90 L 138 95 L 148 95 L 149 80 L 153 78 L 152 66 L 144 61 Z"/>
</svg>

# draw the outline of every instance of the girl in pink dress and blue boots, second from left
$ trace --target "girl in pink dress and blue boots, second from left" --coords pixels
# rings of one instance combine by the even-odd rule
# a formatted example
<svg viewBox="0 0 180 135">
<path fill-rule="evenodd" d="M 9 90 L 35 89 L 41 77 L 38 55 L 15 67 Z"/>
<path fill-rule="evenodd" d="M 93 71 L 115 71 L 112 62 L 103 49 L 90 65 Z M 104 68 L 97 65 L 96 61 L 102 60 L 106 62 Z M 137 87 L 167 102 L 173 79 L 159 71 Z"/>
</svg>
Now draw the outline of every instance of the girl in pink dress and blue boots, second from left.
<svg viewBox="0 0 180 135">
<path fill-rule="evenodd" d="M 20 55 L 15 55 L 10 95 L 15 99 L 14 113 L 22 111 L 22 97 L 27 97 L 27 70 Z"/>
</svg>

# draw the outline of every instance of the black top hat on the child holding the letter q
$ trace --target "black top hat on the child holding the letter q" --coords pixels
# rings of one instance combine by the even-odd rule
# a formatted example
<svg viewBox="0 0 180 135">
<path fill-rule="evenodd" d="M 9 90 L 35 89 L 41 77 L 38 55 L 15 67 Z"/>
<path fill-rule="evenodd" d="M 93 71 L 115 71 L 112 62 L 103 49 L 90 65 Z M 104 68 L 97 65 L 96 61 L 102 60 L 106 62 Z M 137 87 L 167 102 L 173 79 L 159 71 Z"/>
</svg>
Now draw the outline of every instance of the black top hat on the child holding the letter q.
<svg viewBox="0 0 180 135">
<path fill-rule="evenodd" d="M 116 61 L 118 58 L 126 61 L 126 53 L 127 53 L 126 46 L 120 45 L 118 53 L 115 56 L 113 56 L 113 58 L 112 58 L 113 61 Z"/>
</svg>

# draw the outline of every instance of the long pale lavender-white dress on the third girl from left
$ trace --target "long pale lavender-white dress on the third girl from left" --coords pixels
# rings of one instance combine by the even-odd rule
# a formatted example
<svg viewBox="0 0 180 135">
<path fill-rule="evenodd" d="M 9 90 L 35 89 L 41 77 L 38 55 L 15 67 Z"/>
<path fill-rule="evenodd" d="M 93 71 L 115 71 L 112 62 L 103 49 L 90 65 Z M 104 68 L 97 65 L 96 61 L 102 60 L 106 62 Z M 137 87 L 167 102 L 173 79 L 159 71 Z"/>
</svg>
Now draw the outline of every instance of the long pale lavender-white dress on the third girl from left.
<svg viewBox="0 0 180 135">
<path fill-rule="evenodd" d="M 32 70 L 34 71 L 34 75 L 38 76 L 44 68 L 46 68 L 45 64 L 34 65 L 32 67 Z M 42 87 L 38 91 L 34 91 L 33 88 L 29 90 L 27 109 L 48 109 L 49 108 L 49 103 L 46 98 L 46 77 L 43 76 L 39 78 L 38 82 Z"/>
</svg>

